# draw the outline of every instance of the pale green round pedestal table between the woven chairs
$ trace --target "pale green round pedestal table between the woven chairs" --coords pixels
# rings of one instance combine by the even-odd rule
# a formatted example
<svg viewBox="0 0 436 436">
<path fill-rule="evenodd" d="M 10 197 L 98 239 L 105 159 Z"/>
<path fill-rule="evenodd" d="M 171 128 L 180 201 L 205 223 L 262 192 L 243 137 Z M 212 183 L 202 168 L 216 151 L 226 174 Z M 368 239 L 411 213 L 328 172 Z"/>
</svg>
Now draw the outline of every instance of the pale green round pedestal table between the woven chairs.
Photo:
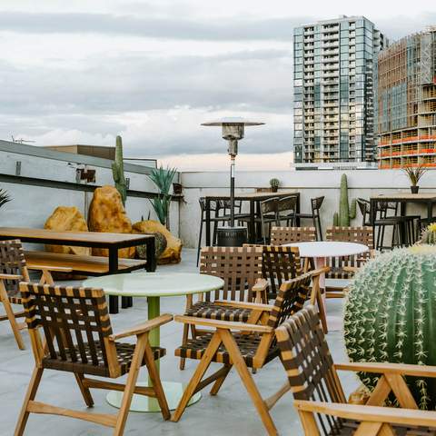
<svg viewBox="0 0 436 436">
<path fill-rule="evenodd" d="M 223 287 L 223 280 L 212 275 L 192 272 L 133 272 L 126 274 L 111 274 L 103 277 L 94 277 L 84 281 L 84 286 L 102 288 L 106 295 L 122 297 L 146 297 L 148 302 L 148 319 L 152 320 L 161 313 L 161 297 L 173 297 L 215 291 Z M 160 329 L 150 332 L 150 345 L 160 346 Z M 156 362 L 159 371 L 159 361 Z M 166 401 L 171 410 L 177 407 L 184 386 L 181 382 L 163 381 Z M 138 386 L 148 386 L 148 382 L 139 382 Z M 193 395 L 190 404 L 199 401 L 200 392 Z M 120 407 L 123 392 L 110 391 L 106 400 L 114 407 Z M 134 395 L 131 411 L 160 411 L 154 398 L 144 395 Z"/>
</svg>

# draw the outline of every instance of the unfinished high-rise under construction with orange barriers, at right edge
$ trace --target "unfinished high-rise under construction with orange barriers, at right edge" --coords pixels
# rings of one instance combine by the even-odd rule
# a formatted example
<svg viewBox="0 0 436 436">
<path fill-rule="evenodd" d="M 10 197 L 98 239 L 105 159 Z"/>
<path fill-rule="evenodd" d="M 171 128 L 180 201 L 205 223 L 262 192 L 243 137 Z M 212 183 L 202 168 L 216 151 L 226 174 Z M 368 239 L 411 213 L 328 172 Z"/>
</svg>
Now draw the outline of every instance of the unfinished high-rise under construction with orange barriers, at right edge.
<svg viewBox="0 0 436 436">
<path fill-rule="evenodd" d="M 436 27 L 381 52 L 377 75 L 379 167 L 436 167 Z"/>
</svg>

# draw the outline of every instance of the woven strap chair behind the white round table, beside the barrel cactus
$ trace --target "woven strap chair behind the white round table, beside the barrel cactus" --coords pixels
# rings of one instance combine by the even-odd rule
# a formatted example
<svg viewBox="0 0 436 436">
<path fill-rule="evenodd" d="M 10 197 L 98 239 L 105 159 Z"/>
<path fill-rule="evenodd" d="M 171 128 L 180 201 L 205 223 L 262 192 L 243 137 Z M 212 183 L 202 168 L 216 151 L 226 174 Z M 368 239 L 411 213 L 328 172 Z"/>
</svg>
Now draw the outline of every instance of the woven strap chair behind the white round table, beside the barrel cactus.
<svg viewBox="0 0 436 436">
<path fill-rule="evenodd" d="M 362 243 L 369 248 L 367 253 L 329 259 L 330 272 L 325 276 L 327 279 L 350 280 L 354 277 L 354 273 L 375 255 L 372 249 L 374 242 L 372 227 L 329 227 L 327 229 L 326 240 L 342 241 L 345 243 Z M 327 287 L 326 296 L 328 298 L 343 297 L 343 289 L 346 288 Z"/>
</svg>

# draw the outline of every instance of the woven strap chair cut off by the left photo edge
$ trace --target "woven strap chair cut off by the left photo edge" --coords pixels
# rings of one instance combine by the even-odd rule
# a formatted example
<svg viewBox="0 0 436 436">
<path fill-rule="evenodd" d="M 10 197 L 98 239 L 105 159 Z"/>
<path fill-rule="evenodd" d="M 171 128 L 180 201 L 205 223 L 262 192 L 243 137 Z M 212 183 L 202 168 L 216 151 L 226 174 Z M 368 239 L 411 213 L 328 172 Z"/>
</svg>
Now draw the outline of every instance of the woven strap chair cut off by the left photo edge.
<svg viewBox="0 0 436 436">
<path fill-rule="evenodd" d="M 42 272 L 41 284 L 53 284 L 51 272 L 71 272 L 70 268 L 35 266 L 32 269 Z M 9 321 L 15 341 L 20 350 L 25 350 L 25 342 L 20 330 L 26 328 L 25 323 L 16 322 L 16 318 L 25 316 L 25 312 L 14 312 L 11 304 L 22 304 L 19 290 L 21 280 L 29 281 L 29 272 L 25 263 L 25 253 L 19 240 L 0 241 L 0 302 L 5 308 L 5 315 L 0 321 Z"/>
</svg>

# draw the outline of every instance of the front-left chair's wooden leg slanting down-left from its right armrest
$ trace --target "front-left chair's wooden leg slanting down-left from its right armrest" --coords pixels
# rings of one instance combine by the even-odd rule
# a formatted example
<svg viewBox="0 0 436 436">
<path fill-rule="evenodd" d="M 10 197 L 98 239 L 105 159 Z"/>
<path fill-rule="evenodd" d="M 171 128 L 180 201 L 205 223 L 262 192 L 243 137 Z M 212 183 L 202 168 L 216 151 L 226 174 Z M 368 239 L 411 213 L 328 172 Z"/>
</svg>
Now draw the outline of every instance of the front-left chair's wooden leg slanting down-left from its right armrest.
<svg viewBox="0 0 436 436">
<path fill-rule="evenodd" d="M 127 421 L 130 404 L 132 403 L 132 397 L 134 396 L 134 388 L 136 386 L 139 369 L 141 368 L 141 362 L 143 362 L 144 359 L 144 350 L 147 341 L 148 333 L 144 333 L 138 337 L 138 342 L 136 342 L 136 346 L 134 348 L 134 357 L 130 365 L 127 382 L 125 383 L 123 400 L 121 401 L 120 411 L 118 411 L 118 416 L 116 419 L 114 436 L 122 436 L 124 433 L 125 421 Z"/>
</svg>

